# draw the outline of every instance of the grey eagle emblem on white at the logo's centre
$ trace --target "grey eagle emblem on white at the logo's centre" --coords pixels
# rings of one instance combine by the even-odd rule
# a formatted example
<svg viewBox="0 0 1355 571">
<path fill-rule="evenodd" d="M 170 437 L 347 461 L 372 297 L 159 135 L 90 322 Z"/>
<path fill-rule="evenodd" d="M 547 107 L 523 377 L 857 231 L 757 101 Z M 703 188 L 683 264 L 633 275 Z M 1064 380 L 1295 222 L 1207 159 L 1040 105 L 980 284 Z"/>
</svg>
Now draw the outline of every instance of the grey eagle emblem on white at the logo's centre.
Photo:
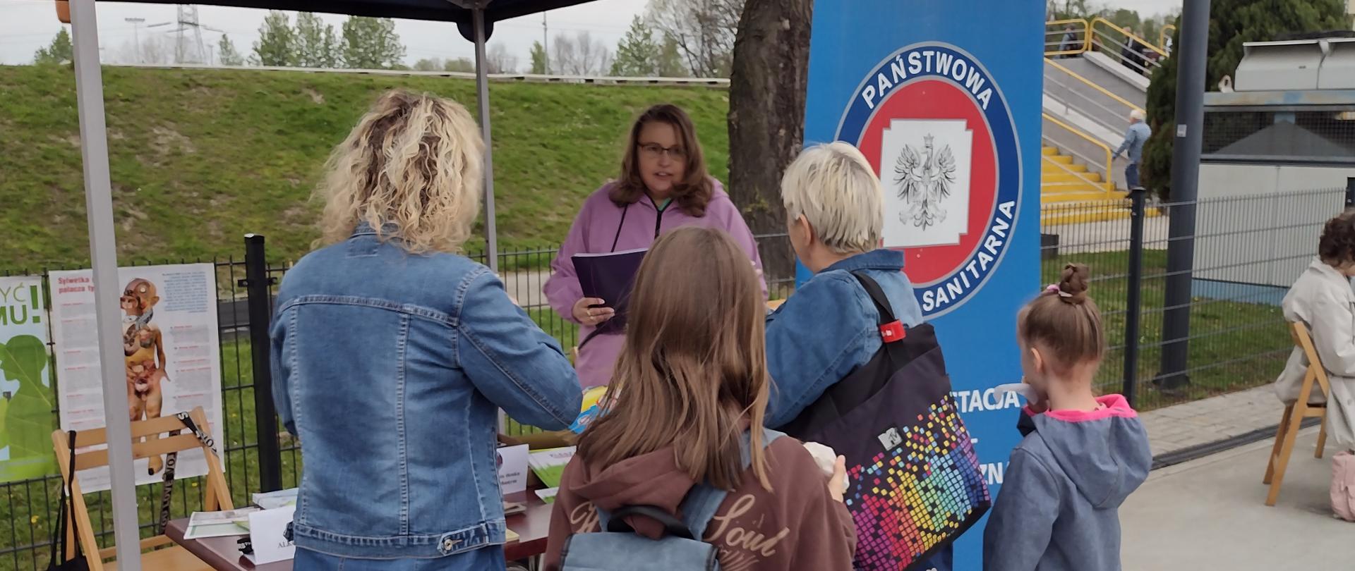
<svg viewBox="0 0 1355 571">
<path fill-rule="evenodd" d="M 946 145 L 936 152 L 932 146 L 932 135 L 923 137 L 921 153 L 917 149 L 904 145 L 894 161 L 894 184 L 898 187 L 898 198 L 906 207 L 898 212 L 898 221 L 927 230 L 946 221 L 946 210 L 942 208 L 942 199 L 950 196 L 950 187 L 955 184 L 955 156 Z"/>
</svg>

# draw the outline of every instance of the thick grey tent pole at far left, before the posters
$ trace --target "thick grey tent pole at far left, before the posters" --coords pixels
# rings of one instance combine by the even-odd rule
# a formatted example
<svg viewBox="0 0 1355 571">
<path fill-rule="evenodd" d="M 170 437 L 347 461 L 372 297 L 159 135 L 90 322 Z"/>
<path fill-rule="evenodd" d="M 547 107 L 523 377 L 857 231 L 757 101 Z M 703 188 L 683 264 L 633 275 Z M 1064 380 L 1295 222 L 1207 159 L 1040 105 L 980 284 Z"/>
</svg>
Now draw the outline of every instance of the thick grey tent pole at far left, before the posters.
<svg viewBox="0 0 1355 571">
<path fill-rule="evenodd" d="M 118 248 L 112 230 L 112 183 L 108 177 L 108 134 L 103 115 L 103 76 L 95 0 L 70 3 L 75 37 L 76 99 L 80 114 L 80 154 L 84 166 L 89 258 L 93 267 L 93 303 L 99 332 L 99 372 L 103 376 L 103 415 L 108 434 L 108 472 L 112 498 L 112 536 L 118 568 L 141 571 L 136 476 L 131 474 L 131 424 L 122 355 L 118 309 Z M 69 426 L 68 426 L 69 428 Z M 92 547 L 87 547 L 92 548 Z"/>
</svg>

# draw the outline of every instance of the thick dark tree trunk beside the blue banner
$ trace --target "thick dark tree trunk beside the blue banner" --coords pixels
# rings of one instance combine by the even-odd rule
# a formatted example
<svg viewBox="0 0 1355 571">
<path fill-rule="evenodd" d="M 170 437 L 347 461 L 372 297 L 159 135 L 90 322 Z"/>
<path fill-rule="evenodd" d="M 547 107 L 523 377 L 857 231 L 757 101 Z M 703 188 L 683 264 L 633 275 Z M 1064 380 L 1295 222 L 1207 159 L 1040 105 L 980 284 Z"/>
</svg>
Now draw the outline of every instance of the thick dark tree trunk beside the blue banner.
<svg viewBox="0 0 1355 571">
<path fill-rule="evenodd" d="M 759 241 L 774 294 L 794 286 L 780 176 L 799 154 L 809 84 L 813 0 L 748 0 L 729 76 L 729 196 Z M 778 287 L 782 286 L 782 287 Z"/>
</svg>

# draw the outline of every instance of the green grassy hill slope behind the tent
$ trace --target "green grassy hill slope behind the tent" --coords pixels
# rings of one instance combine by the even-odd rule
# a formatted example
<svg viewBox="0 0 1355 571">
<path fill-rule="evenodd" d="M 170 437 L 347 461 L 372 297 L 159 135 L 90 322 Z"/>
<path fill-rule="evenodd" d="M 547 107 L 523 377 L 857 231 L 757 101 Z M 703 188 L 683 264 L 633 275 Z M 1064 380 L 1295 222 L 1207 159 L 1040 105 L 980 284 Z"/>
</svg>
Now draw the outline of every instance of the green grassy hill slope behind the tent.
<svg viewBox="0 0 1355 571">
<path fill-rule="evenodd" d="M 309 195 L 329 149 L 390 88 L 449 96 L 476 112 L 469 80 L 107 68 L 119 257 L 238 257 L 251 231 L 267 235 L 270 257 L 299 257 L 316 237 Z M 721 89 L 501 83 L 489 91 L 504 249 L 564 238 L 584 196 L 615 176 L 630 120 L 653 103 L 692 114 L 713 173 L 726 179 Z M 0 66 L 0 269 L 88 260 L 79 143 L 69 68 Z"/>
</svg>

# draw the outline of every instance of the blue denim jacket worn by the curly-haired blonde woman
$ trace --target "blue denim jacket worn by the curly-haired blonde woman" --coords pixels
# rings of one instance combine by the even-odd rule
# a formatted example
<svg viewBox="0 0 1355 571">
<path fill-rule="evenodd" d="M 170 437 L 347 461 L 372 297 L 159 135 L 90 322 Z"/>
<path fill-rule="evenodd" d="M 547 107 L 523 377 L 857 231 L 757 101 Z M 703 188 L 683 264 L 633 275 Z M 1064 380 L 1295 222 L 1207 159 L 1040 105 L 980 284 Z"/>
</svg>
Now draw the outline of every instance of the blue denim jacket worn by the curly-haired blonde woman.
<svg viewBox="0 0 1355 571">
<path fill-rule="evenodd" d="M 312 252 L 278 292 L 272 398 L 305 459 L 297 545 L 412 559 L 503 544 L 496 409 L 564 429 L 579 378 L 489 268 L 374 234 Z"/>
</svg>

